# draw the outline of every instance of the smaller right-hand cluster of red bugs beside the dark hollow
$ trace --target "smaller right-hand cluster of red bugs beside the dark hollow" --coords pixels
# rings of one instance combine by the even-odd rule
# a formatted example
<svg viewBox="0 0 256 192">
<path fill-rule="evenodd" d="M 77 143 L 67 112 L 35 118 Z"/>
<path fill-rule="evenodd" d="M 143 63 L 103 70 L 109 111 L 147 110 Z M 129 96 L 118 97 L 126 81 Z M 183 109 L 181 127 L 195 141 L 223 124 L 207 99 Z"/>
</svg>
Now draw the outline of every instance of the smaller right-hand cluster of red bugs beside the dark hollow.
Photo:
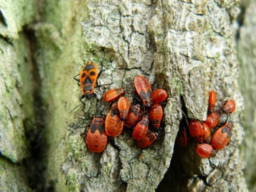
<svg viewBox="0 0 256 192">
<path fill-rule="evenodd" d="M 235 101 L 228 100 L 219 110 L 214 110 L 216 101 L 216 92 L 211 90 L 206 121 L 191 119 L 188 127 L 180 127 L 178 131 L 178 144 L 187 146 L 188 137 L 191 137 L 191 140 L 196 143 L 196 153 L 201 158 L 214 156 L 218 150 L 223 149 L 230 142 L 232 136 L 233 126 L 228 119 L 235 111 Z"/>
</svg>

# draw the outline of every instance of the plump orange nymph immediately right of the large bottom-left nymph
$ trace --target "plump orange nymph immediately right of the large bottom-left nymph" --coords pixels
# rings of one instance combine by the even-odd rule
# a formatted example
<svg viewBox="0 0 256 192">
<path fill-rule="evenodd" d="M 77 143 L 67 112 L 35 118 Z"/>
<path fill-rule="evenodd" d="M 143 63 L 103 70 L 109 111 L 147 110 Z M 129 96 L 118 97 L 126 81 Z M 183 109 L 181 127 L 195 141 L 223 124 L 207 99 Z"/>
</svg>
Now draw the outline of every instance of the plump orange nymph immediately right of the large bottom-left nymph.
<svg viewBox="0 0 256 192">
<path fill-rule="evenodd" d="M 117 103 L 113 103 L 110 112 L 105 119 L 105 130 L 108 136 L 117 137 L 122 133 L 124 122 L 118 115 Z"/>
</svg>

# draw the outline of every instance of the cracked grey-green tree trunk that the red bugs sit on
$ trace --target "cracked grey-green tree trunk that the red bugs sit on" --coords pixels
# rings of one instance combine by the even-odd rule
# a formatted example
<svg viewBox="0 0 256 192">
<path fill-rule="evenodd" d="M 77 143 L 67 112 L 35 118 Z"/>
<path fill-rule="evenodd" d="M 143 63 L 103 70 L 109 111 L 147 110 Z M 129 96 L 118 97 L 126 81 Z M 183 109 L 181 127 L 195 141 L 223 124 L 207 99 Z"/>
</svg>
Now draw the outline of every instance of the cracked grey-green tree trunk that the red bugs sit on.
<svg viewBox="0 0 256 192">
<path fill-rule="evenodd" d="M 16 191 L 247 191 L 239 150 L 244 132 L 233 34 L 237 1 L 46 0 L 37 1 L 36 14 L 30 2 L 15 3 L 16 9 L 4 4 L 0 161 L 15 177 L 28 173 L 11 182 Z M 125 87 L 132 101 L 137 75 L 167 90 L 164 126 L 154 145 L 139 149 L 127 131 L 102 154 L 87 149 L 95 100 L 70 110 L 82 94 L 73 76 L 89 60 L 102 69 L 99 85 L 113 82 L 96 88 L 100 100 L 106 90 Z M 193 144 L 174 144 L 183 111 L 190 119 L 206 119 L 212 89 L 218 105 L 236 102 L 233 137 L 214 157 L 200 159 Z M 8 134 L 6 124 L 12 124 Z"/>
</svg>

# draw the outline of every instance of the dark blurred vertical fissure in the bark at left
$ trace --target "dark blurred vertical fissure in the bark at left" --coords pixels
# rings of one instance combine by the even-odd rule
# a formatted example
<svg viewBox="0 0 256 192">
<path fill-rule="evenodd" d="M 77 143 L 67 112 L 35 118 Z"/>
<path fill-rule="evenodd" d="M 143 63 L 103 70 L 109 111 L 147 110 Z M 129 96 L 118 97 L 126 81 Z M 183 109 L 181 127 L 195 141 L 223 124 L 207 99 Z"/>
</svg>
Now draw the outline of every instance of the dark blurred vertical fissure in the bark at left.
<svg viewBox="0 0 256 192">
<path fill-rule="evenodd" d="M 35 24 L 35 23 L 34 23 Z M 39 73 L 38 53 L 36 31 L 31 26 L 25 26 L 23 33 L 26 36 L 26 45 L 31 53 L 32 63 L 32 81 L 33 81 L 33 114 L 34 119 L 31 123 L 25 122 L 26 137 L 30 146 L 30 156 L 26 159 L 26 169 L 28 174 L 28 183 L 33 190 L 46 191 L 46 151 L 48 144 L 43 130 L 46 129 L 46 106 L 42 98 L 43 80 Z M 51 188 L 51 186 L 50 186 Z"/>
</svg>

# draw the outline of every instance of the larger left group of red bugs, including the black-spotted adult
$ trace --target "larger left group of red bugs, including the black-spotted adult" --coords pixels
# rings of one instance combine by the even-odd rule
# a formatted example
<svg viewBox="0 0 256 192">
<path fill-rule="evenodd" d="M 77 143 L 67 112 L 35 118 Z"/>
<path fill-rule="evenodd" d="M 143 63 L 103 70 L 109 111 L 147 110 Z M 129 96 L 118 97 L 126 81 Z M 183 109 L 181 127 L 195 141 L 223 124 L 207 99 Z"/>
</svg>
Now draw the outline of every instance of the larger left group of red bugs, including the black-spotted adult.
<svg viewBox="0 0 256 192">
<path fill-rule="evenodd" d="M 82 103 L 84 97 L 87 100 L 92 96 L 97 98 L 94 90 L 99 76 L 97 65 L 92 62 L 88 62 L 82 68 L 80 79 L 75 76 L 83 93 L 80 97 Z M 134 87 L 139 98 L 136 97 L 138 102 L 131 107 L 122 87 L 105 92 L 103 100 L 111 104 L 111 109 L 105 119 L 101 114 L 96 114 L 92 119 L 85 138 L 90 151 L 95 153 L 104 151 L 108 137 L 118 137 L 124 127 L 132 129 L 132 137 L 142 149 L 150 146 L 157 139 L 163 117 L 161 105 L 164 104 L 168 94 L 163 89 L 152 91 L 149 81 L 143 76 L 134 78 Z"/>
</svg>

